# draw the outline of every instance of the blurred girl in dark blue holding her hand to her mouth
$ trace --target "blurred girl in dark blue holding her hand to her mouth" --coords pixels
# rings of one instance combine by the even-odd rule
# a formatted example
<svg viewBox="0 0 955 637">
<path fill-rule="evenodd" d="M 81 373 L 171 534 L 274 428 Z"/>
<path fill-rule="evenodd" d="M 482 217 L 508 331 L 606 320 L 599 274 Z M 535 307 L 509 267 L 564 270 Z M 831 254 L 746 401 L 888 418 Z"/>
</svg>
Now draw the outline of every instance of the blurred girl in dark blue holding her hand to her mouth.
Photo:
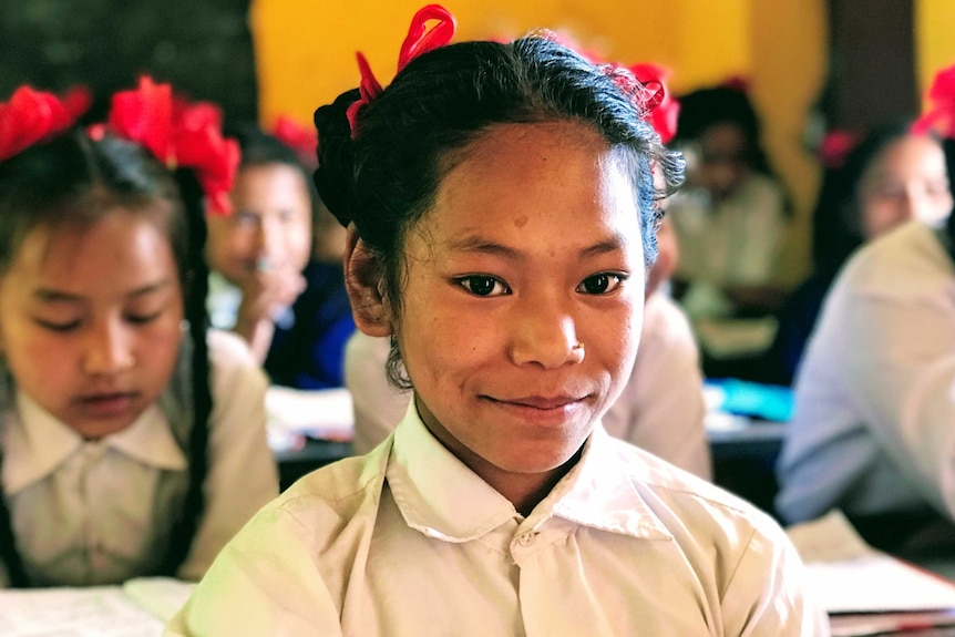
<svg viewBox="0 0 955 637">
<path fill-rule="evenodd" d="M 311 175 L 292 148 L 257 127 L 238 130 L 237 138 L 235 213 L 209 218 L 213 325 L 242 336 L 274 384 L 341 387 L 355 321 L 340 257 L 311 258 Z"/>
</svg>

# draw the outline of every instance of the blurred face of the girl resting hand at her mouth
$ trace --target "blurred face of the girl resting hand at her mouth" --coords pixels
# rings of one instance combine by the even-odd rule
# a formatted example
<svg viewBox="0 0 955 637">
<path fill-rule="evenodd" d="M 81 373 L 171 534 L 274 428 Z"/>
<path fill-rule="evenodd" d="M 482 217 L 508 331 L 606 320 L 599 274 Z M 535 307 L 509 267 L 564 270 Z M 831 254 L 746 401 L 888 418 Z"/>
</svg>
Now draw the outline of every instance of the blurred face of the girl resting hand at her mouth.
<svg viewBox="0 0 955 637">
<path fill-rule="evenodd" d="M 300 273 L 311 249 L 311 198 L 301 172 L 286 164 L 236 175 L 235 212 L 208 218 L 209 267 L 243 286 L 258 271 Z"/>
</svg>

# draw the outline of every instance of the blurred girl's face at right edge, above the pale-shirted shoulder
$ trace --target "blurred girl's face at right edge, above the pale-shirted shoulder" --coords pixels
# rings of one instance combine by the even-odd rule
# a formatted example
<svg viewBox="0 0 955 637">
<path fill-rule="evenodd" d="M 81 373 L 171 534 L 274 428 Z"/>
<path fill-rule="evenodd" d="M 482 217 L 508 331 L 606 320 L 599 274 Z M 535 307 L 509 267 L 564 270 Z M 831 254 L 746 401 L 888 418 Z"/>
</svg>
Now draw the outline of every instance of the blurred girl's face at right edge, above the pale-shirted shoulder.
<svg viewBox="0 0 955 637">
<path fill-rule="evenodd" d="M 945 153 L 938 142 L 922 135 L 900 137 L 883 148 L 859 188 L 866 239 L 910 219 L 937 225 L 952 210 Z"/>
</svg>

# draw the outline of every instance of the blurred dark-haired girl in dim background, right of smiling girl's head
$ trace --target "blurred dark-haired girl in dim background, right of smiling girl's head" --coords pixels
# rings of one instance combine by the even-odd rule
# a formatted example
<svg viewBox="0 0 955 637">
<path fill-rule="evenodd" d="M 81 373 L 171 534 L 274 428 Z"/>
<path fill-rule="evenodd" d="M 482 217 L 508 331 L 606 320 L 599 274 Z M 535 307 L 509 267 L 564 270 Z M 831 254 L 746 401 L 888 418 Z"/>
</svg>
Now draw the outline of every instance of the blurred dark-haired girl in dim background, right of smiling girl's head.
<svg viewBox="0 0 955 637">
<path fill-rule="evenodd" d="M 674 144 L 692 161 L 670 202 L 684 258 L 675 292 L 691 318 L 766 314 L 788 225 L 785 197 L 761 146 L 761 126 L 743 90 L 700 89 L 679 100 Z"/>
</svg>

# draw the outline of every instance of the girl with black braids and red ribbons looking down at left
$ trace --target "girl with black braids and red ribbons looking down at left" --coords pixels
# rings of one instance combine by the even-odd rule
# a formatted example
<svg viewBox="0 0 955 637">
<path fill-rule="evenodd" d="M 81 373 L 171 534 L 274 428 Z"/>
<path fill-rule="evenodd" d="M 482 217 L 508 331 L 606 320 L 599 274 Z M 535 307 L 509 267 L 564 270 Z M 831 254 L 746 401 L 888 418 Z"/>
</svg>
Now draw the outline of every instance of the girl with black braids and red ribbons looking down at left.
<svg viewBox="0 0 955 637">
<path fill-rule="evenodd" d="M 227 191 L 234 150 L 205 106 L 151 119 L 188 107 L 147 80 L 92 136 L 18 136 L 38 119 L 24 94 L 0 107 L 23 142 L 0 148 L 0 578 L 199 578 L 277 493 L 265 379 L 205 330 L 199 184 Z"/>
</svg>

